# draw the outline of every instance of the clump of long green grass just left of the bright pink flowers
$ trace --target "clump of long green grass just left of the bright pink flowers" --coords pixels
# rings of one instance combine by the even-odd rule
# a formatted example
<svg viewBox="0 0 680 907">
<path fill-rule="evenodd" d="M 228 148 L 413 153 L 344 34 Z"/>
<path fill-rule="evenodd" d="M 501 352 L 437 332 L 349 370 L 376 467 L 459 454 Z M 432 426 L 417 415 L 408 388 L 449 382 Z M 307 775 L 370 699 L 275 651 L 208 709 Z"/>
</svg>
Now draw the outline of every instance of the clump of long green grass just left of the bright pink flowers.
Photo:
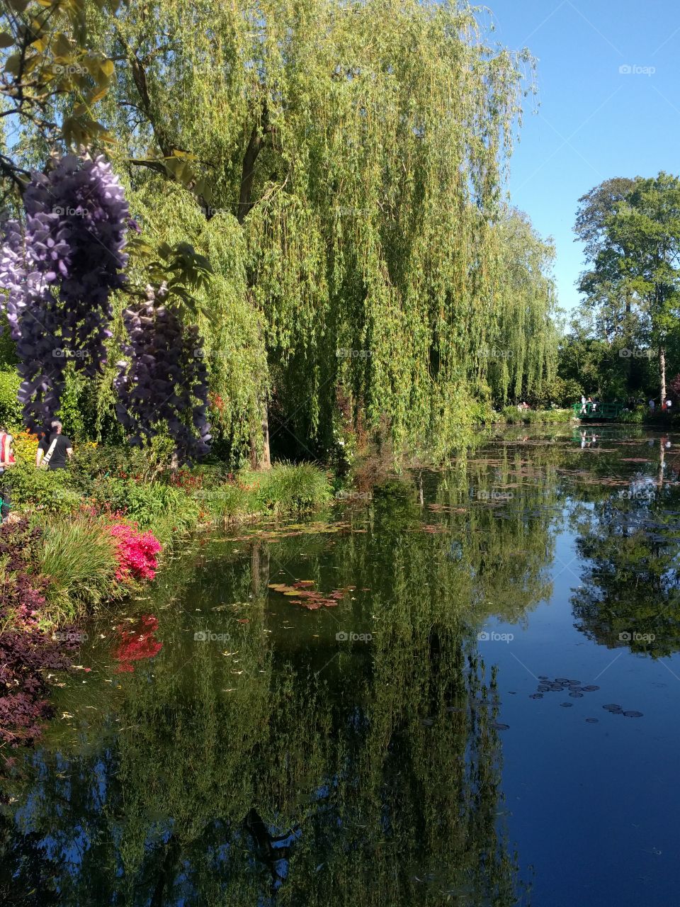
<svg viewBox="0 0 680 907">
<path fill-rule="evenodd" d="M 32 522 L 38 523 L 37 514 Z M 69 520 L 44 522 L 42 544 L 36 551 L 36 570 L 49 577 L 47 605 L 57 622 L 72 620 L 125 588 L 115 579 L 116 548 L 108 523 L 79 514 Z"/>
</svg>

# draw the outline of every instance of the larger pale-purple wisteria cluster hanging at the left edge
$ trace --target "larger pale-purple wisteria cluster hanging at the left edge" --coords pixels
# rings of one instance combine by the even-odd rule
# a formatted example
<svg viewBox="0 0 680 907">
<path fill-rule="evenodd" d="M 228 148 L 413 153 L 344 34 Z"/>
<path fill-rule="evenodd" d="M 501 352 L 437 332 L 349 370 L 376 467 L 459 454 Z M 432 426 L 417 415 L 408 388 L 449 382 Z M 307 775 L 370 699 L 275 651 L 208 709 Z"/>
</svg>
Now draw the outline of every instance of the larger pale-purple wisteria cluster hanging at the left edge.
<svg viewBox="0 0 680 907">
<path fill-rule="evenodd" d="M 97 374 L 111 336 L 110 297 L 124 283 L 130 211 L 111 165 L 68 155 L 34 173 L 24 194 L 25 229 L 5 225 L 0 285 L 23 383 L 24 421 L 56 414 L 66 365 Z"/>
</svg>

